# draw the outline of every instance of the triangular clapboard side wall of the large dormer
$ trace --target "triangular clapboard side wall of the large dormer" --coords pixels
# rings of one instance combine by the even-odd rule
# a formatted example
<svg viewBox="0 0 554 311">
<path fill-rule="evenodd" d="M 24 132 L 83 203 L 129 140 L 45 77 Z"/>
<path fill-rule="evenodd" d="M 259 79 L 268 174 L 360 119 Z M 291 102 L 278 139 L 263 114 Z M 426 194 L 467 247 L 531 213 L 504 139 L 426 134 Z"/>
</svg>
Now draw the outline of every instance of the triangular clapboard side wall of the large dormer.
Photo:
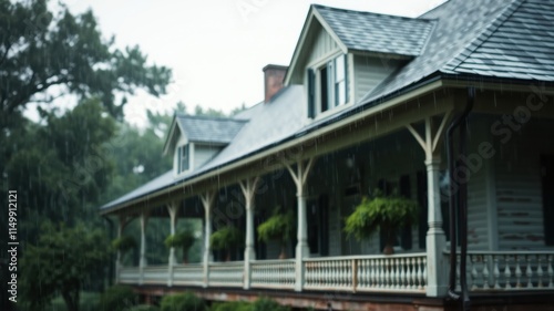
<svg viewBox="0 0 554 311">
<path fill-rule="evenodd" d="M 400 62 L 375 56 L 353 56 L 355 103 L 400 66 Z"/>
</svg>

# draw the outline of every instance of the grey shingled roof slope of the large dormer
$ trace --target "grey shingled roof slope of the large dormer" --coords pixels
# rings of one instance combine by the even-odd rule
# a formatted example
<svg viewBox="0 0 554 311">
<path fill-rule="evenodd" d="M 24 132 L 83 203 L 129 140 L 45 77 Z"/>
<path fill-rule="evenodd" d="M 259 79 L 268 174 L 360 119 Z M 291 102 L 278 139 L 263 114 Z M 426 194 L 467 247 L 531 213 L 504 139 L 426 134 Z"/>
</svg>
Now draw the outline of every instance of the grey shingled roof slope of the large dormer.
<svg viewBox="0 0 554 311">
<path fill-rule="evenodd" d="M 314 4 L 320 22 L 348 50 L 417 56 L 421 54 L 434 21 L 377 14 Z"/>
</svg>

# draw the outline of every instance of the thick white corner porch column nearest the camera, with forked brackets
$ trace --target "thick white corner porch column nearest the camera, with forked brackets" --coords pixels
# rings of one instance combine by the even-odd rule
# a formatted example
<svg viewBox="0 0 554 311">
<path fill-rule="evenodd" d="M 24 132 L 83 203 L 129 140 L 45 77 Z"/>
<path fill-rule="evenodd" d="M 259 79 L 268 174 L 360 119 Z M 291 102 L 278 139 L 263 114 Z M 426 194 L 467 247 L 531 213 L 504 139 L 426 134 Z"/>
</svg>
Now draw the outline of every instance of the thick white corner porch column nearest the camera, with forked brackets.
<svg viewBox="0 0 554 311">
<path fill-rule="evenodd" d="M 428 188 L 428 224 L 427 231 L 427 296 L 443 297 L 448 291 L 448 274 L 442 253 L 447 246 L 447 236 L 442 230 L 441 194 L 439 187 L 439 170 L 441 164 L 438 144 L 444 132 L 447 121 L 450 118 L 448 112 L 434 133 L 432 131 L 431 117 L 425 118 L 425 138 L 411 126 L 407 125 L 416 141 L 425 152 L 427 188 Z"/>
</svg>

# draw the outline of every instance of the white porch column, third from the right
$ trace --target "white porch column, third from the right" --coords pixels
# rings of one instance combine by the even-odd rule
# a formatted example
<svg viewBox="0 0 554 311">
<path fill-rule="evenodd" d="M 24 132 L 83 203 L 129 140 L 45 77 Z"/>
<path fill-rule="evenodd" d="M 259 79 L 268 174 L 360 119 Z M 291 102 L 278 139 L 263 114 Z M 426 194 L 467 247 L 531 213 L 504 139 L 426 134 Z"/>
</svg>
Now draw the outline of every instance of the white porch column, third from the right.
<svg viewBox="0 0 554 311">
<path fill-rule="evenodd" d="M 250 261 L 256 260 L 256 251 L 254 249 L 254 195 L 256 194 L 256 185 L 259 177 L 240 182 L 240 189 L 245 197 L 246 208 L 246 240 L 244 250 L 244 289 L 250 288 Z"/>
</svg>

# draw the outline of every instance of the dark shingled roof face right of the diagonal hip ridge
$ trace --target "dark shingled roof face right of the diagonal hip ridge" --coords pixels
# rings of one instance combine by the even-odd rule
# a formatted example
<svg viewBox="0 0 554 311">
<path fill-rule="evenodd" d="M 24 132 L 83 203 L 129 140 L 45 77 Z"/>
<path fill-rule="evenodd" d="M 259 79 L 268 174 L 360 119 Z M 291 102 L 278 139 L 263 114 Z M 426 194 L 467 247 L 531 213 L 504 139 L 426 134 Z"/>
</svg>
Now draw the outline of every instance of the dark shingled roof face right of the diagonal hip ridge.
<svg viewBox="0 0 554 311">
<path fill-rule="evenodd" d="M 553 34 L 552 0 L 514 1 L 442 71 L 554 81 Z"/>
</svg>

